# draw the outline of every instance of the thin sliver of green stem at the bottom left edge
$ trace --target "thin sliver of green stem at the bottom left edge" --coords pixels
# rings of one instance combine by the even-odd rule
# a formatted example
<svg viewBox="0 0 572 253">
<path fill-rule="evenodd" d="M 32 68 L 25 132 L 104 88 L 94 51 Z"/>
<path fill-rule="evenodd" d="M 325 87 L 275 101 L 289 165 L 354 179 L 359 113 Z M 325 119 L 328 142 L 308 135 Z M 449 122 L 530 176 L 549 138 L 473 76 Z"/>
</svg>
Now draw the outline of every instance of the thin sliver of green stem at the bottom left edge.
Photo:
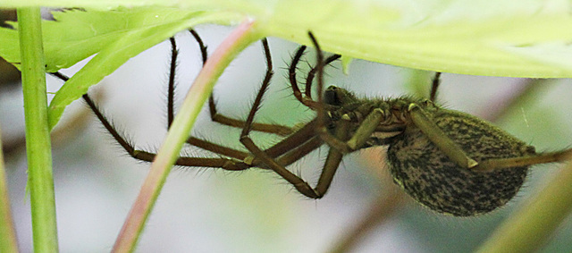
<svg viewBox="0 0 572 253">
<path fill-rule="evenodd" d="M 2 139 L 1 133 L 0 139 Z M 0 252 L 15 253 L 18 251 L 18 240 L 16 240 L 16 230 L 14 230 L 12 212 L 10 211 L 2 142 L 0 142 Z"/>
</svg>

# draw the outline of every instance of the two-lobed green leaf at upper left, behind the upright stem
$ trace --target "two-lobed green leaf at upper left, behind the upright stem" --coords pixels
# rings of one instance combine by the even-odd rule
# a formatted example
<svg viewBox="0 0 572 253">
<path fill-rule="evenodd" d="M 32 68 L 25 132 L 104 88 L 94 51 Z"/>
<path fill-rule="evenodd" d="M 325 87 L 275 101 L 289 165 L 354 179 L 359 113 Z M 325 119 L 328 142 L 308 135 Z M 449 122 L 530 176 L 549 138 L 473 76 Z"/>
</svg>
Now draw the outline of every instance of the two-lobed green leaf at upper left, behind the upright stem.
<svg viewBox="0 0 572 253">
<path fill-rule="evenodd" d="M 131 57 L 180 30 L 199 23 L 228 23 L 237 16 L 224 12 L 148 7 L 110 12 L 74 10 L 55 13 L 57 21 L 44 21 L 47 71 L 55 72 L 89 55 L 97 55 L 56 92 L 49 106 L 50 128 L 55 126 L 65 106 Z M 0 49 L 0 54 L 16 66 L 20 63 L 20 54 L 16 54 L 20 50 L 17 36 L 15 30 L 0 30 L 0 42 L 7 45 Z"/>
</svg>

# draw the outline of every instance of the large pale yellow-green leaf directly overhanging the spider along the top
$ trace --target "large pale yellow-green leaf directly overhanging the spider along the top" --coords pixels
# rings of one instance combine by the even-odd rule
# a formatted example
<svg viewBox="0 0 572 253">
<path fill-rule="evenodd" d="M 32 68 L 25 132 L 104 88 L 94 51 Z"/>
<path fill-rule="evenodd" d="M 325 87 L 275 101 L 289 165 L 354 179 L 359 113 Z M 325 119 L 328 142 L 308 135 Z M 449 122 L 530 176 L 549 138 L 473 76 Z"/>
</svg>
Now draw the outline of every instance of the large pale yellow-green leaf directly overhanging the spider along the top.
<svg viewBox="0 0 572 253">
<path fill-rule="evenodd" d="M 4 0 L 4 4 L 46 3 Z M 325 50 L 352 58 L 473 75 L 572 77 L 568 1 L 53 0 L 49 4 L 225 10 L 256 18 L 267 36 L 301 44 L 309 44 L 307 31 L 312 30 Z"/>
</svg>

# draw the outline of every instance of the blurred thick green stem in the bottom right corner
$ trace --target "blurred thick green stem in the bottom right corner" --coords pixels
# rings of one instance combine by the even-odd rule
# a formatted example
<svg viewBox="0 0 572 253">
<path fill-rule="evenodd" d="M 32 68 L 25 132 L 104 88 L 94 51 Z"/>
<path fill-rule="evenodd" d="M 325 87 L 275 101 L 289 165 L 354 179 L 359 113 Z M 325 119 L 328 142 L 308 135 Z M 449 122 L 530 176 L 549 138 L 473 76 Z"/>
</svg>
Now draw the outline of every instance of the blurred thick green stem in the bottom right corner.
<svg viewBox="0 0 572 253">
<path fill-rule="evenodd" d="M 527 199 L 478 252 L 533 252 L 540 249 L 572 211 L 572 162 L 534 198 Z"/>
</svg>

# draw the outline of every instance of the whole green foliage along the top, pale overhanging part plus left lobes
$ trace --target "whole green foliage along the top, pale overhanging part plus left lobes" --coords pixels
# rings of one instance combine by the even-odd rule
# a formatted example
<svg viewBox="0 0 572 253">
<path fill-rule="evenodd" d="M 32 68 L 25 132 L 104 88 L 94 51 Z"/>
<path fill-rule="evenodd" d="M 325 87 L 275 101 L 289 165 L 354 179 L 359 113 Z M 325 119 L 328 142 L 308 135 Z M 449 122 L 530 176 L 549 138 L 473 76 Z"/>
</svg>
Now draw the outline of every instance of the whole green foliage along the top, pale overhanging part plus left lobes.
<svg viewBox="0 0 572 253">
<path fill-rule="evenodd" d="M 4 0 L 10 6 L 44 2 Z M 121 14 L 59 14 L 59 25 L 65 28 L 59 30 L 46 23 L 46 57 L 51 70 L 99 52 L 86 66 L 90 71 L 78 72 L 79 77 L 70 80 L 78 83 L 74 85 L 82 88 L 76 89 L 80 92 L 178 30 L 202 22 L 240 21 L 247 15 L 258 21 L 265 36 L 307 44 L 307 31 L 312 30 L 325 50 L 348 58 L 473 75 L 572 77 L 568 1 L 53 0 L 49 4 L 99 9 L 119 4 L 177 7 L 122 9 Z M 103 34 L 105 31 L 112 32 Z M 0 43 L 17 44 L 4 31 Z M 0 54 L 17 62 L 6 51 L 17 50 L 0 49 Z M 50 105 L 52 124 L 78 94 L 58 92 Z"/>
</svg>

